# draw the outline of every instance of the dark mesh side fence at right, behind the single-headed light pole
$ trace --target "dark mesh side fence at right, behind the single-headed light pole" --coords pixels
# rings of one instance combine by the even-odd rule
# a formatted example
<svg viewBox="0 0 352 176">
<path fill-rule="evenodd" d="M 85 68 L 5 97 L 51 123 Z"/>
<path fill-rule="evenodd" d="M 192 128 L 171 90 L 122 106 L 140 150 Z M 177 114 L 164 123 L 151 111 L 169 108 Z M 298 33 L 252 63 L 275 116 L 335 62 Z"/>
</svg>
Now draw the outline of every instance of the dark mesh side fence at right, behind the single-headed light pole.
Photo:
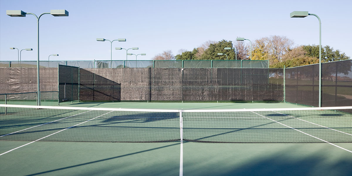
<svg viewBox="0 0 352 176">
<path fill-rule="evenodd" d="M 352 105 L 352 61 L 322 63 L 321 106 Z M 319 64 L 285 69 L 286 101 L 319 106 Z"/>
</svg>

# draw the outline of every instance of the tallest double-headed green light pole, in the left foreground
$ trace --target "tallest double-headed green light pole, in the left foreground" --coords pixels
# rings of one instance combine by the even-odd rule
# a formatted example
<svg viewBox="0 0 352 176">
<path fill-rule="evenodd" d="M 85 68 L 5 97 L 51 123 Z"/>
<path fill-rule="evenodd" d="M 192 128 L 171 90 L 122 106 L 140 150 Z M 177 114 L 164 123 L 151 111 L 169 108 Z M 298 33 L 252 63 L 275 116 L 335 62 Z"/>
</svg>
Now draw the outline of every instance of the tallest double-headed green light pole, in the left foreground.
<svg viewBox="0 0 352 176">
<path fill-rule="evenodd" d="M 44 14 L 51 14 L 54 17 L 65 17 L 68 16 L 68 12 L 66 10 L 50 10 L 50 12 L 42 13 L 37 17 L 34 13 L 26 13 L 21 10 L 7 10 L 6 14 L 10 17 L 26 17 L 26 14 L 31 14 L 37 18 L 37 42 L 38 42 L 38 58 L 37 58 L 37 105 L 40 106 L 40 90 L 39 90 L 39 19 Z"/>
</svg>

